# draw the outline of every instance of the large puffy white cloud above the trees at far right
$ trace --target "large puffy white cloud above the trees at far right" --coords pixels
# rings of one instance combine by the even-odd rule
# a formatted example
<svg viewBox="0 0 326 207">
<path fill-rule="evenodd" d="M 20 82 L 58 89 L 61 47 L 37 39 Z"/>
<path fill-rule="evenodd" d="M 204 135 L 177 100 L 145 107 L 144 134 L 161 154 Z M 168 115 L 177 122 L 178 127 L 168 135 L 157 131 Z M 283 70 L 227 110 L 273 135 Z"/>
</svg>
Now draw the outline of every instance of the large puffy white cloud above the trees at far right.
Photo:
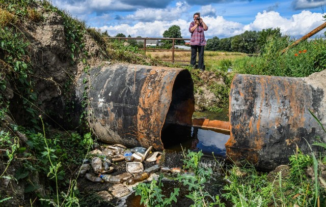
<svg viewBox="0 0 326 207">
<path fill-rule="evenodd" d="M 254 22 L 243 27 L 248 31 L 261 31 L 264 28 L 280 27 L 283 35 L 287 34 L 292 37 L 301 37 L 323 23 L 323 14 L 302 11 L 299 14 L 292 15 L 287 19 L 281 17 L 278 12 L 258 13 Z"/>
</svg>

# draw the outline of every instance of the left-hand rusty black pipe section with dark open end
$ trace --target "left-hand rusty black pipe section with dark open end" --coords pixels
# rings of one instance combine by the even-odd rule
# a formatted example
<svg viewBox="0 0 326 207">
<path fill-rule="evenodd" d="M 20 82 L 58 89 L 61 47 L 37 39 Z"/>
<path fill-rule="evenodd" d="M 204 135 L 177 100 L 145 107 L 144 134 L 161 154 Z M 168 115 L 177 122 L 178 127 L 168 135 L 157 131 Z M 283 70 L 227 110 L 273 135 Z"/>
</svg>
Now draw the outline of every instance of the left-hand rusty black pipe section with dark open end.
<svg viewBox="0 0 326 207">
<path fill-rule="evenodd" d="M 194 84 L 188 70 L 115 64 L 92 69 L 89 79 L 88 121 L 103 142 L 162 150 L 164 125 L 192 124 Z"/>
</svg>

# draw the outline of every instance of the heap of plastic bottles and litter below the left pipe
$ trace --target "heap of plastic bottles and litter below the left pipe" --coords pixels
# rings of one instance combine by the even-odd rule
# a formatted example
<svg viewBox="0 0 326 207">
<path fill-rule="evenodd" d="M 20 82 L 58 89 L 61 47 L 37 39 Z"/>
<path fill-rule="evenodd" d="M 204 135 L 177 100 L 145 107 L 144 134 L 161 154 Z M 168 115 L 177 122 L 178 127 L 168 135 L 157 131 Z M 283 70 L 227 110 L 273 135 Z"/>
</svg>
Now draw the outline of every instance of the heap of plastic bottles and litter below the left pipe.
<svg viewBox="0 0 326 207">
<path fill-rule="evenodd" d="M 192 130 L 192 135 L 196 134 L 196 138 L 199 137 L 197 142 L 195 141 L 197 144 L 200 143 L 201 137 L 198 136 L 200 133 L 200 130 Z M 192 139 L 192 141 L 194 140 Z M 107 186 L 109 188 L 106 188 L 108 190 L 102 191 L 99 195 L 105 200 L 112 200 L 112 197 L 121 198 L 130 194 L 128 188 L 130 189 L 132 186 L 128 188 L 127 186 L 144 182 L 151 177 L 151 174 L 158 176 L 155 173 L 186 173 L 180 167 L 165 167 L 158 164 L 162 152 L 152 152 L 152 150 L 152 146 L 147 149 L 145 147 L 128 149 L 119 144 L 99 145 L 98 149 L 90 153 L 91 164 L 84 164 L 81 167 L 82 174 L 85 172 L 85 179 L 88 181 L 109 185 Z M 198 148 L 193 147 L 193 150 L 196 151 Z M 130 162 L 130 157 L 134 159 L 133 162 Z"/>
</svg>

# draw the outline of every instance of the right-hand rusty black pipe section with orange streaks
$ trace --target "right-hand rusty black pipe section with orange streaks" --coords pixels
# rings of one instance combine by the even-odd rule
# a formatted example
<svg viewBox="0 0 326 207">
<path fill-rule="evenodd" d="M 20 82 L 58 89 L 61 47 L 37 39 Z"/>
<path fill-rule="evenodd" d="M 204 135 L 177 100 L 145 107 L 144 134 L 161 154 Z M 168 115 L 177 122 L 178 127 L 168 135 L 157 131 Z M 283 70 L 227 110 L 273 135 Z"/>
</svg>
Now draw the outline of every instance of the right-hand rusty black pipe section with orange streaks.
<svg viewBox="0 0 326 207">
<path fill-rule="evenodd" d="M 230 91 L 230 139 L 225 145 L 229 159 L 272 170 L 288 163 L 296 145 L 310 154 L 306 140 L 311 144 L 316 137 L 325 137 L 308 110 L 325 124 L 325 87 L 318 84 L 309 78 L 236 74 Z"/>
</svg>

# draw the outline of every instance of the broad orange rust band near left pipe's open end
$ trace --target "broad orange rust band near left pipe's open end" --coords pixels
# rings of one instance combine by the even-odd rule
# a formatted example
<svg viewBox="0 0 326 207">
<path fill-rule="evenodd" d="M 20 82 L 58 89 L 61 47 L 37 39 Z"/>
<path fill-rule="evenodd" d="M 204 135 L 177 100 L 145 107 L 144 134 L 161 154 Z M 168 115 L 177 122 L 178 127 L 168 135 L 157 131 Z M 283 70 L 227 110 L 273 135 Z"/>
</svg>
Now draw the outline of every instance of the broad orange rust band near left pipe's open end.
<svg viewBox="0 0 326 207">
<path fill-rule="evenodd" d="M 171 75 L 170 70 L 156 68 L 145 77 L 137 114 L 137 139 L 144 147 L 153 145 L 155 150 L 163 149 L 160 133 L 171 103 L 173 83 L 180 71 L 174 71 Z M 169 83 L 164 82 L 165 77 L 170 77 Z M 162 98 L 167 101 L 162 102 Z"/>
</svg>

